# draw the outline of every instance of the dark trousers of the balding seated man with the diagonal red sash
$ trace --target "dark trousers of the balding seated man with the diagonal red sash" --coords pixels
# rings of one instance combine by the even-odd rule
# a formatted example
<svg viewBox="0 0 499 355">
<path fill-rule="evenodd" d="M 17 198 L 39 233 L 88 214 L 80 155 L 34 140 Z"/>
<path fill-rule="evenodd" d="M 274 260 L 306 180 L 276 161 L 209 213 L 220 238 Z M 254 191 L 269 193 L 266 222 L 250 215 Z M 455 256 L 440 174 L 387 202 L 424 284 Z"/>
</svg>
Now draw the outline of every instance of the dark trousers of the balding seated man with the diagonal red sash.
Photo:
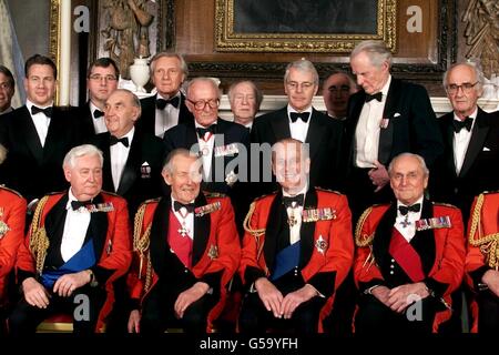
<svg viewBox="0 0 499 355">
<path fill-rule="evenodd" d="M 424 298 L 409 306 L 404 313 L 396 313 L 373 295 L 359 297 L 355 317 L 355 333 L 370 334 L 431 334 L 438 301 Z M 420 312 L 411 312 L 419 307 Z"/>
</svg>

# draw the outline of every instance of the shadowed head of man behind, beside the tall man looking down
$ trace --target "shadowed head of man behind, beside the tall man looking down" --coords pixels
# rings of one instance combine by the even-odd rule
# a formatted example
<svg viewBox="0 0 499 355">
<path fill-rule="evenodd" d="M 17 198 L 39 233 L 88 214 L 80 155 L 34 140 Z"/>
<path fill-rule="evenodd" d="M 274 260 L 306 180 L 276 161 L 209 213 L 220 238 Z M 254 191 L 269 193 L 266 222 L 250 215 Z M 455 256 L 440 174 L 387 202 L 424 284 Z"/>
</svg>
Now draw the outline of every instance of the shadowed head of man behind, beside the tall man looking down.
<svg viewBox="0 0 499 355">
<path fill-rule="evenodd" d="M 324 81 L 323 99 L 327 115 L 345 121 L 347 118 L 348 99 L 358 91 L 355 80 L 346 72 L 332 73 Z"/>
</svg>

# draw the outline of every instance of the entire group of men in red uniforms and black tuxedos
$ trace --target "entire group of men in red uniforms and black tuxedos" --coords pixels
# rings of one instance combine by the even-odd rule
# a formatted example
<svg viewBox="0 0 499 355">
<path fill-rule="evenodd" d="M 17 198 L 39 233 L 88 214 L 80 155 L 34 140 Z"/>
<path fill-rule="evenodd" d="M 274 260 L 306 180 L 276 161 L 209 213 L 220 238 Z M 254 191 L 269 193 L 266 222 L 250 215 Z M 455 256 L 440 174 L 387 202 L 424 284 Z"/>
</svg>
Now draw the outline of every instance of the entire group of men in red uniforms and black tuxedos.
<svg viewBox="0 0 499 355">
<path fill-rule="evenodd" d="M 360 42 L 359 90 L 329 77 L 326 114 L 312 106 L 313 63 L 294 61 L 286 106 L 255 119 L 261 91 L 236 82 L 228 122 L 212 79 L 181 90 L 177 53 L 153 57 L 156 94 L 141 101 L 118 89 L 112 60 L 96 60 L 78 109 L 53 105 L 57 68 L 30 58 L 26 105 L 0 116 L 9 332 L 61 312 L 80 333 L 211 332 L 241 298 L 228 316 L 244 333 L 456 329 L 465 271 L 473 329 L 497 332 L 499 205 L 485 191 L 499 185 L 499 118 L 477 105 L 483 77 L 450 67 L 454 111 L 437 119 L 426 90 L 390 65 L 383 42 Z M 0 69 L 6 101 L 13 79 Z M 11 271 L 21 294 L 8 303 Z"/>
</svg>

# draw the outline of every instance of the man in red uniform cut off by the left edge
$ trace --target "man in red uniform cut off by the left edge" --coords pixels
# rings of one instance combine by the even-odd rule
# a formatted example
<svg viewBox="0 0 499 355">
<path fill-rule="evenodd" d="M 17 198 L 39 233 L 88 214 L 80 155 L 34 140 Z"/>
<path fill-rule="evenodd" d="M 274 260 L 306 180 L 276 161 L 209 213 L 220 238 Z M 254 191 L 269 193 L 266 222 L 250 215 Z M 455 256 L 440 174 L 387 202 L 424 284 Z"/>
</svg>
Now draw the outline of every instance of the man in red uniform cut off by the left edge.
<svg viewBox="0 0 499 355">
<path fill-rule="evenodd" d="M 0 163 L 4 158 L 6 149 L 0 145 Z M 24 239 L 24 220 L 26 200 L 18 192 L 0 186 L 0 335 L 6 332 L 9 275 Z"/>
</svg>

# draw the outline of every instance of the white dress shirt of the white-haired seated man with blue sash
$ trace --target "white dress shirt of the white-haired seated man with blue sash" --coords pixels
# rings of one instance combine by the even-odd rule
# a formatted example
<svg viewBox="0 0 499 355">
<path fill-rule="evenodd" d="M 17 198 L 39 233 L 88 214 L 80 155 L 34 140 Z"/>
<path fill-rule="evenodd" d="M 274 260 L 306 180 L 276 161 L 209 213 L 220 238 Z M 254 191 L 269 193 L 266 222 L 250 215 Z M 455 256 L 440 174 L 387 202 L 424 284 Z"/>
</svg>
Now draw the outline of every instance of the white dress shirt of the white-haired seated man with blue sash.
<svg viewBox="0 0 499 355">
<path fill-rule="evenodd" d="M 65 205 L 68 214 L 65 216 L 64 231 L 62 232 L 61 240 L 61 256 L 64 262 L 69 261 L 81 250 L 85 241 L 86 230 L 90 225 L 89 210 L 82 207 L 73 211 L 71 207 L 71 201 L 78 201 L 71 189 L 69 190 L 68 197 Z"/>
</svg>

